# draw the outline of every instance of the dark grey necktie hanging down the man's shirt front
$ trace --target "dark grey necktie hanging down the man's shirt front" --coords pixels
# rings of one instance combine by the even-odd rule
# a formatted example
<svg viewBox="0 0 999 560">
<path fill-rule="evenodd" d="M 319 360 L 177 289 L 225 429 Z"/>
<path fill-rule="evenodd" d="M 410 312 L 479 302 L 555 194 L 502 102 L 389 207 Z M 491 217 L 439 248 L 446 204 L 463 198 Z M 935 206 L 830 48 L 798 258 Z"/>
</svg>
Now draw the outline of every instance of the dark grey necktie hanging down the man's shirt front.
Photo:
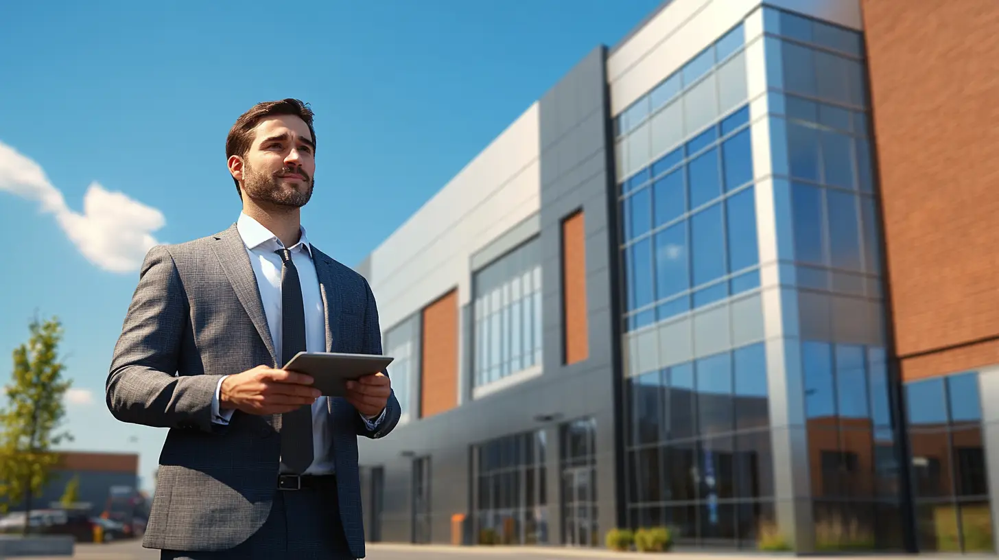
<svg viewBox="0 0 999 560">
<path fill-rule="evenodd" d="M 277 251 L 284 261 L 281 268 L 281 359 L 288 363 L 306 350 L 306 312 L 302 303 L 299 271 L 288 249 Z M 313 459 L 312 407 L 303 405 L 281 415 L 281 462 L 293 473 L 302 474 Z"/>
</svg>

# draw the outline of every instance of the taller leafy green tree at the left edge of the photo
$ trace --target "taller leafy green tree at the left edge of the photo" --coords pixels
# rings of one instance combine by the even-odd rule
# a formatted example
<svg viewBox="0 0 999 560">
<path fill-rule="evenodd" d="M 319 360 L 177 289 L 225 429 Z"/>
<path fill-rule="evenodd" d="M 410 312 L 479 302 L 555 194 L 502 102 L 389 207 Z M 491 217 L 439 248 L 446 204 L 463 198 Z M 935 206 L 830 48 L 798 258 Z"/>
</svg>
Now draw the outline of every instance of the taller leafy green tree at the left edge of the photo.
<svg viewBox="0 0 999 560">
<path fill-rule="evenodd" d="M 58 354 L 62 324 L 57 318 L 35 318 L 29 331 L 28 342 L 14 350 L 7 406 L 0 409 L 0 507 L 23 501 L 25 519 L 30 519 L 32 497 L 42 491 L 59 462 L 52 447 L 72 439 L 59 431 L 66 414 L 63 396 L 70 387 Z"/>
</svg>

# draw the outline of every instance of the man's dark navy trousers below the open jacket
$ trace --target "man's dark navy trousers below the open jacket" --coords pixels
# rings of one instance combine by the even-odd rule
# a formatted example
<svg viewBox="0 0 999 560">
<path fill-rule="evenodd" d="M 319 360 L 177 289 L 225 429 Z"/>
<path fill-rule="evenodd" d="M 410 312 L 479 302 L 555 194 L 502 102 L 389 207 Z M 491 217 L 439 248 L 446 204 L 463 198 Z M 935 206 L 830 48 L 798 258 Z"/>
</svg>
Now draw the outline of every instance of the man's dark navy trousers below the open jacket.
<svg viewBox="0 0 999 560">
<path fill-rule="evenodd" d="M 267 521 L 248 540 L 225 551 L 163 550 L 160 560 L 345 560 L 354 559 L 344 536 L 334 477 L 315 487 L 276 490 Z"/>
</svg>

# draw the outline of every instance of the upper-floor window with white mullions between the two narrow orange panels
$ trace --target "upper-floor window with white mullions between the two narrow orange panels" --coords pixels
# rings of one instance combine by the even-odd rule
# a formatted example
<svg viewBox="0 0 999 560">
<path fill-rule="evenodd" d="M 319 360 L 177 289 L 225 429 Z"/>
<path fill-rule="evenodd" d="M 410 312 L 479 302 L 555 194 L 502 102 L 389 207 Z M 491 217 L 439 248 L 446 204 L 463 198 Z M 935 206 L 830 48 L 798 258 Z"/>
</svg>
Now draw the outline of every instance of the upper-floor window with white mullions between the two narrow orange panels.
<svg viewBox="0 0 999 560">
<path fill-rule="evenodd" d="M 475 387 L 541 365 L 541 265 L 537 238 L 476 272 Z"/>
</svg>

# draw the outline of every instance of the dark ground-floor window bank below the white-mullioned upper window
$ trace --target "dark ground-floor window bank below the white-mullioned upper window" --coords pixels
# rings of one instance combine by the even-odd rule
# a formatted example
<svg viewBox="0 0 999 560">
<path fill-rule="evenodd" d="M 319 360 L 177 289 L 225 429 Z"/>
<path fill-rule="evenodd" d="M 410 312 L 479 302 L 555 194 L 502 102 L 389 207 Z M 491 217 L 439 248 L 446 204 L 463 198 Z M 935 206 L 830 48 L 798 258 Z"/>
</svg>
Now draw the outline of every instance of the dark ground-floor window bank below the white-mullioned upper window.
<svg viewBox="0 0 999 560">
<path fill-rule="evenodd" d="M 545 449 L 542 430 L 476 446 L 479 544 L 548 542 Z"/>
</svg>

